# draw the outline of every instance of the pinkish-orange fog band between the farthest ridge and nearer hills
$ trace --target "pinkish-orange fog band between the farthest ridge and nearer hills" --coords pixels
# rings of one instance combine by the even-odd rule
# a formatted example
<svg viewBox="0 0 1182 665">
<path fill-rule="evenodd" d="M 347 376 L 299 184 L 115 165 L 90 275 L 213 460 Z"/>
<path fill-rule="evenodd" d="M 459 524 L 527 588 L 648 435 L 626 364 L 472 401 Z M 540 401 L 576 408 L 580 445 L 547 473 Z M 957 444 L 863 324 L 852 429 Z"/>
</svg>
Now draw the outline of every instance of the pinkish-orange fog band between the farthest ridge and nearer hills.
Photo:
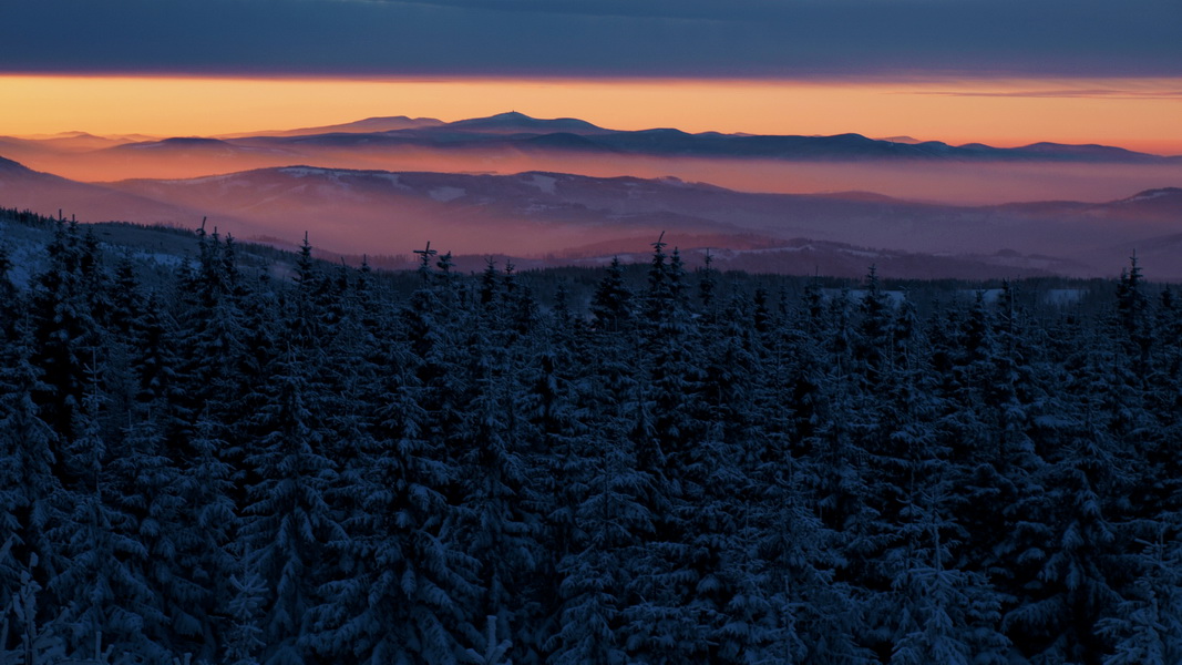
<svg viewBox="0 0 1182 665">
<path fill-rule="evenodd" d="M 673 176 L 740 192 L 869 192 L 897 199 L 954 205 L 1052 200 L 1100 202 L 1121 199 L 1142 189 L 1182 183 L 1182 163 L 781 161 L 417 147 L 361 147 L 349 150 L 260 148 L 235 151 L 122 149 L 82 154 L 24 149 L 9 150 L 6 156 L 35 170 L 87 182 L 187 179 L 294 164 L 499 175 L 545 170 L 595 177 Z"/>
</svg>

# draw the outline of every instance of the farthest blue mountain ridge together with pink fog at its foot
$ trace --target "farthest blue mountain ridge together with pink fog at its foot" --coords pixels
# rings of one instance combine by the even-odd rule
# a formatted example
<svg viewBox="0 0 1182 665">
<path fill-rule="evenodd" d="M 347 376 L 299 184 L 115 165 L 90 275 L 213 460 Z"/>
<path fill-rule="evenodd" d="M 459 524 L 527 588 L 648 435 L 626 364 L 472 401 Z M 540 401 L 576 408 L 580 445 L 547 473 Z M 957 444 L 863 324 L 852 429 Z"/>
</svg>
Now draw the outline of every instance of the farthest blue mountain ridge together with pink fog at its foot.
<svg viewBox="0 0 1182 665">
<path fill-rule="evenodd" d="M 520 112 L 443 122 L 407 116 L 222 136 L 0 137 L 0 155 L 79 181 L 187 179 L 259 168 L 673 175 L 743 192 L 872 191 L 944 204 L 1115 200 L 1182 182 L 1182 157 L 1106 146 L 998 148 L 910 137 L 613 130 Z"/>
</svg>

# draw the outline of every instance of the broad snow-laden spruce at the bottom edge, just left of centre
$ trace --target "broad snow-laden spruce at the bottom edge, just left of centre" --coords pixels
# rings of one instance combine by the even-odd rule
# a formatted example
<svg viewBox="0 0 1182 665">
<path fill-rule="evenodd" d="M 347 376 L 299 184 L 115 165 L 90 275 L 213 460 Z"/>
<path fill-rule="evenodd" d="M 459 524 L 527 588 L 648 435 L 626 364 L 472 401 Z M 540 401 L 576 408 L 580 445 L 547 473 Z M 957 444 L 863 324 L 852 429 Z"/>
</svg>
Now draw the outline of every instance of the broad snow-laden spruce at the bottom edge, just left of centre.
<svg viewBox="0 0 1182 665">
<path fill-rule="evenodd" d="M 324 586 L 310 644 L 358 663 L 455 663 L 472 588 L 442 534 L 452 473 L 421 430 L 416 382 L 388 387 L 396 392 L 383 395 L 374 435 L 342 485 L 357 510 L 329 543 L 340 568 Z"/>
</svg>

